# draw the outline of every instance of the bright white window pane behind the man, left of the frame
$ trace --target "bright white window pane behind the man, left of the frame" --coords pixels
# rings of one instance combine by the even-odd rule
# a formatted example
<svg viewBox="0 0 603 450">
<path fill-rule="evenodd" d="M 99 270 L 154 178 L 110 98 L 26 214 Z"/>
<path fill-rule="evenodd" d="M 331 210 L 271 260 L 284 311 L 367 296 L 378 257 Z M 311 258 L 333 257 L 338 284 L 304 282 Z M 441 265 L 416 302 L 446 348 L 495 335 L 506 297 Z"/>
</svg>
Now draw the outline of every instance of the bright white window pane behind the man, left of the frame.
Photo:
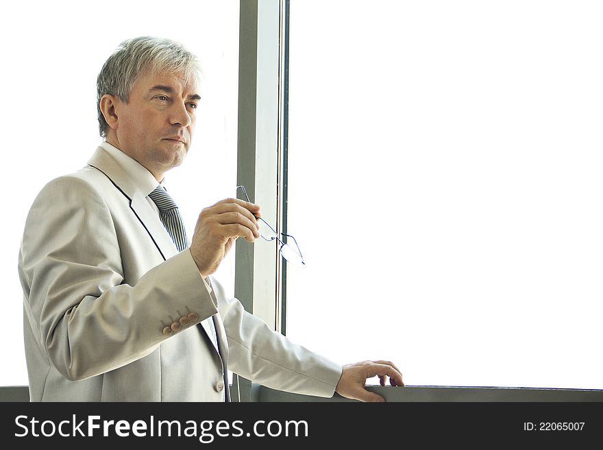
<svg viewBox="0 0 603 450">
<path fill-rule="evenodd" d="M 175 14 L 156 0 L 108 0 L 99 8 L 64 0 L 3 6 L 3 181 L 18 195 L 4 198 L 16 220 L 4 221 L 0 234 L 0 313 L 12 327 L 6 336 L 14 336 L 1 346 L 0 358 L 12 364 L 0 372 L 0 385 L 27 385 L 16 271 L 27 212 L 42 186 L 84 166 L 101 142 L 96 77 L 120 42 L 143 35 L 171 38 L 197 54 L 204 69 L 193 147 L 186 164 L 166 177 L 189 236 L 202 208 L 235 194 L 239 2 L 187 2 L 184 8 Z M 234 290 L 232 258 L 216 276 Z"/>
</svg>

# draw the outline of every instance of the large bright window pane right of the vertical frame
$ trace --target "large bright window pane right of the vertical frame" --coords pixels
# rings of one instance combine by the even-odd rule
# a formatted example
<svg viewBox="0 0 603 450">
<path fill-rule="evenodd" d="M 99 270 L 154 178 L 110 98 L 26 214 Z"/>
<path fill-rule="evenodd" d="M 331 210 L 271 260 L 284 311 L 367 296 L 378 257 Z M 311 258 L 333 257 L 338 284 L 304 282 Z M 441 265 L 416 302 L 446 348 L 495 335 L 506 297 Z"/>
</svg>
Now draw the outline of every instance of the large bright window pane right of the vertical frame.
<svg viewBox="0 0 603 450">
<path fill-rule="evenodd" d="M 602 387 L 602 13 L 291 0 L 288 336 L 412 385 Z"/>
</svg>

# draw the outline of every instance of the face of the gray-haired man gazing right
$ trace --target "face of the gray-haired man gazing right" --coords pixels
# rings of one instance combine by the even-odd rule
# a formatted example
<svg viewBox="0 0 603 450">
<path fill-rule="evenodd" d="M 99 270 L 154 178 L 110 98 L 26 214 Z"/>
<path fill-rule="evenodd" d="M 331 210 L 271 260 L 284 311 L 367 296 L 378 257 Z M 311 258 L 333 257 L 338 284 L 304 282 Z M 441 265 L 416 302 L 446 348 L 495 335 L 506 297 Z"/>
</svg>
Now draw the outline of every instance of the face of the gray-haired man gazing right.
<svg viewBox="0 0 603 450">
<path fill-rule="evenodd" d="M 178 74 L 142 75 L 127 103 L 116 100 L 115 145 L 145 166 L 160 181 L 184 161 L 195 128 L 199 104 L 196 82 Z"/>
</svg>

